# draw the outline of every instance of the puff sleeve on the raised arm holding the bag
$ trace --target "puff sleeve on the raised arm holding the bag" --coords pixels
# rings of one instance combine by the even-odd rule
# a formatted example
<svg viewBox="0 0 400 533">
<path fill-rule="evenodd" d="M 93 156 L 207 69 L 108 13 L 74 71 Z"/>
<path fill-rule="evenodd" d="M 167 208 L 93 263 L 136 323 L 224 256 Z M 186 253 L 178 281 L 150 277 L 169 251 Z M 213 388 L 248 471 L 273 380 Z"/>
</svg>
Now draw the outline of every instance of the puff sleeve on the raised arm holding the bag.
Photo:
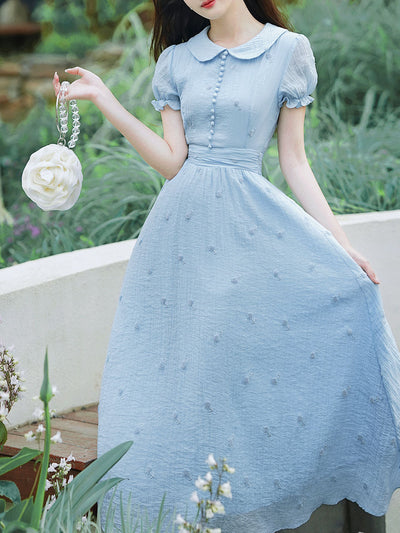
<svg viewBox="0 0 400 533">
<path fill-rule="evenodd" d="M 173 79 L 173 56 L 175 44 L 165 48 L 158 57 L 152 89 L 155 100 L 151 103 L 156 111 L 161 111 L 168 104 L 172 109 L 180 109 L 181 102 Z"/>
</svg>

